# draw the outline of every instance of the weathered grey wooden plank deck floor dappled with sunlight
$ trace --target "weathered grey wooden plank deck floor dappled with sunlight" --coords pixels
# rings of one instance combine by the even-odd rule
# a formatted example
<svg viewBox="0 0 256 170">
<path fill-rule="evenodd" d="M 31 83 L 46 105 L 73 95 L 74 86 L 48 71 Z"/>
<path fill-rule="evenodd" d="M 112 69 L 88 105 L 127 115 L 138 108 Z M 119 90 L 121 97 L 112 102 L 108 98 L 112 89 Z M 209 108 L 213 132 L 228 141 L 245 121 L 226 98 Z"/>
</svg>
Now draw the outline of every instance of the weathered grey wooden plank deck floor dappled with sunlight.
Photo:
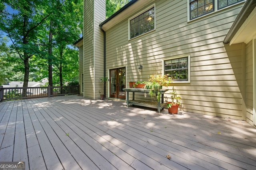
<svg viewBox="0 0 256 170">
<path fill-rule="evenodd" d="M 245 121 L 77 95 L 0 102 L 0 145 L 30 170 L 256 169 Z"/>
</svg>

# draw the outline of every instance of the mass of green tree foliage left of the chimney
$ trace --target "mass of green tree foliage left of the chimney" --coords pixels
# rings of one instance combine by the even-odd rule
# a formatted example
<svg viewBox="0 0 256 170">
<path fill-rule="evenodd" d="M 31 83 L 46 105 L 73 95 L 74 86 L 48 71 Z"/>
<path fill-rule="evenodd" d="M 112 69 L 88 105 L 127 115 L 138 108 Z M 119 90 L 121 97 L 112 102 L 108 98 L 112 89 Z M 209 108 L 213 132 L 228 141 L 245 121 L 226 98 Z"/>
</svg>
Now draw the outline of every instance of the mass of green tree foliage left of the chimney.
<svg viewBox="0 0 256 170">
<path fill-rule="evenodd" d="M 7 6 L 12 10 L 8 10 Z M 6 33 L 12 43 L 6 45 L 2 43 L 3 39 L 0 39 L 0 51 L 6 53 L 3 59 L 0 52 L 1 63 L 6 64 L 0 68 L 0 83 L 5 78 L 25 82 L 48 77 L 48 59 L 52 60 L 50 64 L 53 66 L 55 84 L 60 83 L 61 74 L 64 82 L 72 81 L 78 76 L 78 50 L 70 44 L 82 33 L 82 0 L 1 0 L 0 10 L 0 33 Z M 49 43 L 51 20 L 54 23 L 53 41 Z M 54 51 L 52 55 L 48 55 L 50 46 Z M 26 73 L 28 77 L 25 80 Z"/>
</svg>

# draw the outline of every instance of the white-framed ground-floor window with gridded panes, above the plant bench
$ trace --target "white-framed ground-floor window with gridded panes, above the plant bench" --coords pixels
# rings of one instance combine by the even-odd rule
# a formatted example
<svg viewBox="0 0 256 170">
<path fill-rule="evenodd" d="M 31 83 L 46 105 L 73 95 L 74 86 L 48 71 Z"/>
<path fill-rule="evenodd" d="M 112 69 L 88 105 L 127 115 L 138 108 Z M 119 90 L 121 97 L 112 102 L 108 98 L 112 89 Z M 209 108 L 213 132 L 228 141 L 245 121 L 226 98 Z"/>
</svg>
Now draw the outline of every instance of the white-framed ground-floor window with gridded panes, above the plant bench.
<svg viewBox="0 0 256 170">
<path fill-rule="evenodd" d="M 164 61 L 164 74 L 169 74 L 174 82 L 189 82 L 190 57 L 173 58 Z"/>
</svg>

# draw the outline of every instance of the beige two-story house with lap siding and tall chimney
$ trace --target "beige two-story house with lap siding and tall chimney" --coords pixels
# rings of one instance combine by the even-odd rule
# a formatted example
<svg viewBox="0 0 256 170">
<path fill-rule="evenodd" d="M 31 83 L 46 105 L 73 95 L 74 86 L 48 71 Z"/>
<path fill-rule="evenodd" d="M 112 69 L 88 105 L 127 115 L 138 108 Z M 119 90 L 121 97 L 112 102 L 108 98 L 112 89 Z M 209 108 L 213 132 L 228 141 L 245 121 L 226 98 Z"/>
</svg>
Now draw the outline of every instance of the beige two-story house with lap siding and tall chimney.
<svg viewBox="0 0 256 170">
<path fill-rule="evenodd" d="M 255 126 L 255 6 L 255 0 L 132 0 L 105 20 L 104 0 L 84 0 L 84 36 L 75 44 L 80 94 L 99 99 L 99 78 L 107 76 L 106 96 L 125 99 L 128 82 L 168 73 L 181 110 Z"/>
</svg>

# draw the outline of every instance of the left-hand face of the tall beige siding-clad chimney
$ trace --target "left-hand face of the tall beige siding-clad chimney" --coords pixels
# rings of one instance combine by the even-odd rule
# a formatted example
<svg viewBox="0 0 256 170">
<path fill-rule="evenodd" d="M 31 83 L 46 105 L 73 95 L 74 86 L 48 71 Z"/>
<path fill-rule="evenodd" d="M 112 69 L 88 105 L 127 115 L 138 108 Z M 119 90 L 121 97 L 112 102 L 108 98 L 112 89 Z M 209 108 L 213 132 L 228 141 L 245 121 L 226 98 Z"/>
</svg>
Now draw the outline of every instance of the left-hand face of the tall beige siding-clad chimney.
<svg viewBox="0 0 256 170">
<path fill-rule="evenodd" d="M 94 98 L 94 3 L 84 1 L 84 97 Z"/>
</svg>

